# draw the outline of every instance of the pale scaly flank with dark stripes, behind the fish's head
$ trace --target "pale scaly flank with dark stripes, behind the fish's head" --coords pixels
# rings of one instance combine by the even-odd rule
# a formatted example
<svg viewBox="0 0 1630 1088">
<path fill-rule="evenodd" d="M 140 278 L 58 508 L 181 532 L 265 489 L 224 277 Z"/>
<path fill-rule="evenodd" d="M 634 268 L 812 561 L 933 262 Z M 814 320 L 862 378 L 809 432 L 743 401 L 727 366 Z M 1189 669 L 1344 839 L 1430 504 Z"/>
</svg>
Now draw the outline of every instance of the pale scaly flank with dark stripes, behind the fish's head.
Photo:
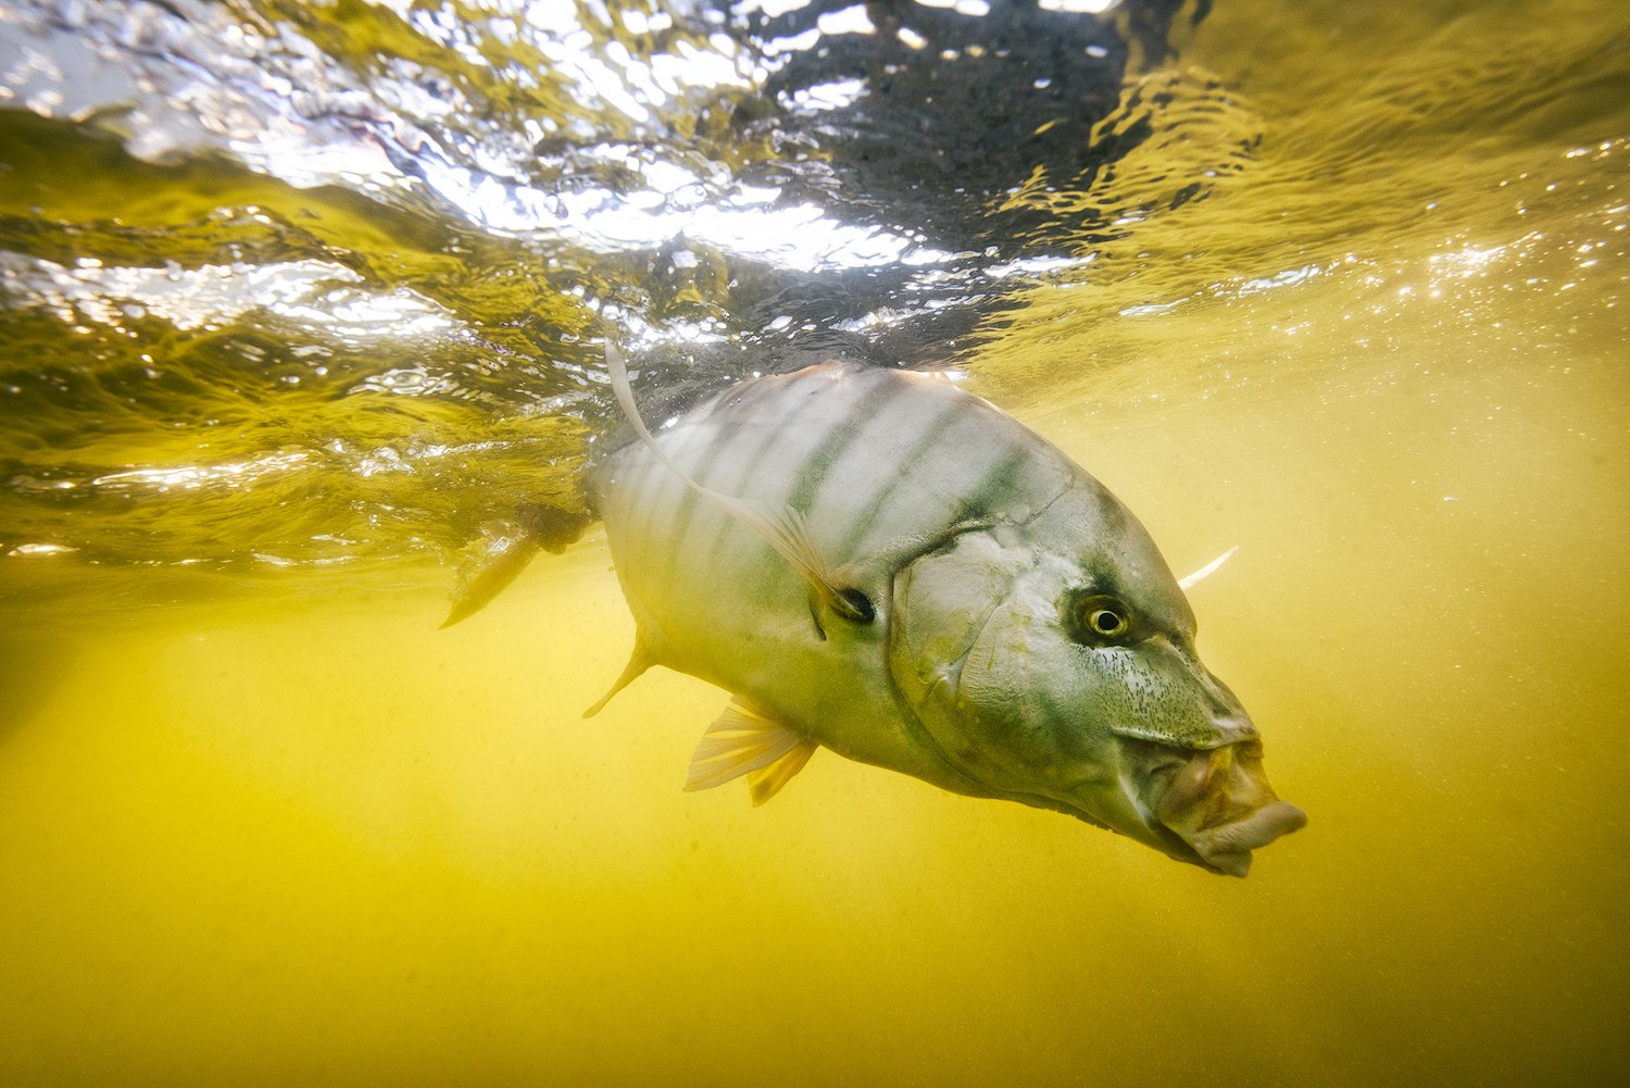
<svg viewBox="0 0 1630 1088">
<path fill-rule="evenodd" d="M 758 388 L 727 391 L 663 427 L 659 445 L 706 488 L 766 506 L 810 502 L 805 514 L 817 543 L 835 564 L 866 561 L 861 577 L 875 597 L 887 594 L 903 555 L 931 546 L 965 519 L 965 493 L 1011 467 L 1022 432 L 983 401 L 916 374 L 828 365 L 750 385 Z M 768 440 L 751 437 L 758 434 Z M 727 455 L 734 450 L 743 457 Z M 1063 455 L 1032 452 L 1030 460 L 1035 494 L 1012 489 L 999 504 L 1015 517 L 1069 483 Z M 616 486 L 624 473 L 628 486 Z M 805 483 L 810 476 L 818 476 L 815 484 Z M 835 648 L 823 644 L 810 620 L 802 579 L 637 444 L 600 471 L 597 491 L 641 639 L 657 662 L 747 695 L 784 721 L 825 718 L 808 728 L 826 732 L 828 747 L 851 759 L 879 762 L 898 745 L 898 729 L 843 728 L 854 718 L 844 692 L 856 675 L 877 677 L 870 683 L 877 701 L 892 708 L 896 700 L 880 675 L 887 652 L 880 635 L 822 652 Z M 890 493 L 910 501 L 880 506 Z M 680 600 L 686 604 L 672 607 Z M 724 662 L 698 654 L 701 633 L 743 652 Z M 800 695 L 789 700 L 794 688 Z"/>
</svg>

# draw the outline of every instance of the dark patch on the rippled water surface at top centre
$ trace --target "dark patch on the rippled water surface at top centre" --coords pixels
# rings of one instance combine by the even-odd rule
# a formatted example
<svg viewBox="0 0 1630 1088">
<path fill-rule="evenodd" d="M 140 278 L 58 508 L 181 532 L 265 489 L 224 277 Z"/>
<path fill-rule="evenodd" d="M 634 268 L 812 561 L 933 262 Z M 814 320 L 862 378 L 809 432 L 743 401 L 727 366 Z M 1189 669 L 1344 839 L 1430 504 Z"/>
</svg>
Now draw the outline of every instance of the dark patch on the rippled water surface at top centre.
<svg viewBox="0 0 1630 1088">
<path fill-rule="evenodd" d="M 851 8 L 817 0 L 750 20 L 750 41 L 795 38 Z M 870 3 L 874 34 L 833 36 L 792 54 L 766 91 L 781 109 L 738 109 L 738 127 L 807 142 L 833 176 L 776 176 L 846 217 L 923 232 L 958 250 L 1017 248 L 1022 225 L 988 202 L 1043 171 L 1071 181 L 1105 161 L 1092 126 L 1115 109 L 1128 47 L 1105 21 L 1035 3 L 980 15 L 918 3 Z M 852 100 L 799 109 L 800 96 L 852 80 Z M 817 189 L 817 183 L 828 184 Z"/>
</svg>

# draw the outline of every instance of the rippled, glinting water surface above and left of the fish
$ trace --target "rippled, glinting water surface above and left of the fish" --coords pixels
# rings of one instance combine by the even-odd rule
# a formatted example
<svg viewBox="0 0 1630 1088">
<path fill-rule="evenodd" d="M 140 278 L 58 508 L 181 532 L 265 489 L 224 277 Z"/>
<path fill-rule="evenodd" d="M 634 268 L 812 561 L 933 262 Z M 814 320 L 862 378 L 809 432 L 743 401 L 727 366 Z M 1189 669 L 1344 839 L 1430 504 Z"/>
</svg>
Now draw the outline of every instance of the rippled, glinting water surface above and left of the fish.
<svg viewBox="0 0 1630 1088">
<path fill-rule="evenodd" d="M 606 331 L 654 421 L 952 362 L 1030 282 L 996 266 L 1113 233 L 1050 192 L 1144 139 L 1095 127 L 1203 11 L 10 5 L 0 563 L 378 561 L 580 509 L 626 437 Z"/>
</svg>

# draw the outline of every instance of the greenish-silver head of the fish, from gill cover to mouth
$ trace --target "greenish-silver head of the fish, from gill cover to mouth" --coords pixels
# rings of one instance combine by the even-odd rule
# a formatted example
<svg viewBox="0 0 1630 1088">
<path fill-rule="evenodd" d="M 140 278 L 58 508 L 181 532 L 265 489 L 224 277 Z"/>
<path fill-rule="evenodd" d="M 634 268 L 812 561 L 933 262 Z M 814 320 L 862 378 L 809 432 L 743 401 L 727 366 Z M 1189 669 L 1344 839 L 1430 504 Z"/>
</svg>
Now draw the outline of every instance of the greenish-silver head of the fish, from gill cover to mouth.
<svg viewBox="0 0 1630 1088">
<path fill-rule="evenodd" d="M 901 568 L 890 670 L 949 788 L 1077 816 L 1214 873 L 1306 824 L 1262 770 L 1195 617 L 1107 489 L 971 527 Z M 955 780 L 960 780 L 955 781 Z"/>
</svg>

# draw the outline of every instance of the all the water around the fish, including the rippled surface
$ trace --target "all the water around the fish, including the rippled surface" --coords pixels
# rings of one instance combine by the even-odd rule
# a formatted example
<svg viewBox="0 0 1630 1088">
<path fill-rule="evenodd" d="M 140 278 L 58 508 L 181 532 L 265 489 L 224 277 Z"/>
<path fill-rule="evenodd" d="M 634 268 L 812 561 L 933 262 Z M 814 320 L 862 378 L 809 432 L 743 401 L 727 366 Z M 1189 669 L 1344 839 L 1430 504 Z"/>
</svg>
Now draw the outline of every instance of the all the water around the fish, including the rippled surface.
<svg viewBox="0 0 1630 1088">
<path fill-rule="evenodd" d="M 8 3 L 0 100 L 0 1078 L 1617 1080 L 1623 5 Z M 1309 829 L 681 793 L 597 532 L 437 631 L 608 328 L 955 367 L 1239 545 Z"/>
</svg>

